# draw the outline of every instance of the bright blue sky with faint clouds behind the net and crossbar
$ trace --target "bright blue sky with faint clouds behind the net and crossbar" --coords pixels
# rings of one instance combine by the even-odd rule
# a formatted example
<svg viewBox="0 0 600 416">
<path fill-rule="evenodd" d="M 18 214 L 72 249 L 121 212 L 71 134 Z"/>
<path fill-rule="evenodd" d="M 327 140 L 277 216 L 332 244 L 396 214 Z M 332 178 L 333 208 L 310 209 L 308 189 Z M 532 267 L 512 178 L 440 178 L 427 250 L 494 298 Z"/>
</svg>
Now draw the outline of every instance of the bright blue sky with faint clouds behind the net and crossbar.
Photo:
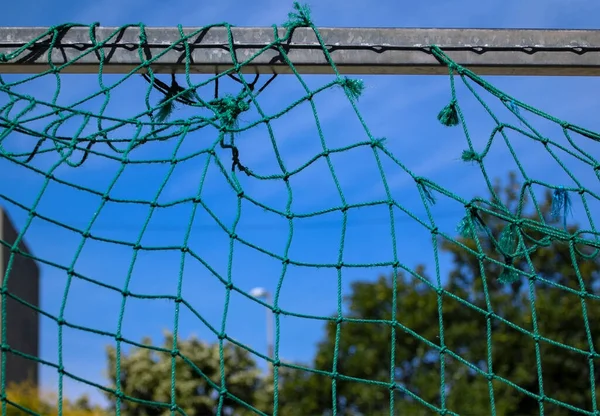
<svg viewBox="0 0 600 416">
<path fill-rule="evenodd" d="M 483 27 L 483 28 L 585 28 L 597 29 L 595 16 L 600 3 L 594 0 L 536 1 L 429 1 L 398 2 L 382 0 L 377 7 L 372 1 L 321 1 L 311 4 L 314 23 L 319 27 Z M 177 6 L 158 1 L 116 1 L 81 3 L 56 0 L 42 5 L 28 2 L 9 2 L 0 15 L 2 26 L 50 26 L 65 22 L 100 22 L 103 26 L 118 26 L 143 22 L 147 26 L 202 26 L 228 21 L 238 26 L 269 26 L 281 24 L 291 10 L 292 2 L 199 2 L 179 1 Z M 8 78 L 7 80 L 14 79 Z M 105 82 L 115 82 L 116 77 L 106 77 Z M 164 78 L 163 78 L 164 79 Z M 308 76 L 306 81 L 316 88 L 332 80 L 332 77 Z M 462 150 L 467 148 L 460 128 L 441 126 L 436 115 L 450 98 L 447 77 L 417 76 L 368 76 L 362 77 L 366 89 L 358 108 L 375 137 L 386 137 L 386 145 L 413 172 L 435 181 L 452 192 L 469 199 L 474 195 L 486 195 L 482 176 L 477 168 L 460 161 Z M 558 118 L 568 120 L 592 130 L 598 130 L 597 100 L 594 91 L 600 80 L 594 78 L 549 77 L 489 77 L 491 83 Z M 233 88 L 233 87 L 232 87 Z M 54 92 L 52 79 L 36 81 L 20 91 L 35 94 L 48 100 Z M 72 103 L 97 91 L 95 76 L 65 77 L 60 103 Z M 127 117 L 139 112 L 144 105 L 145 85 L 131 80 L 115 89 L 108 114 Z M 469 132 L 474 142 L 487 140 L 492 123 L 483 114 L 464 88 L 459 88 L 459 99 L 467 117 Z M 279 111 L 304 93 L 292 77 L 279 77 L 271 88 L 261 96 L 260 102 L 266 112 Z M 154 95 L 154 101 L 160 97 Z M 158 98 L 157 98 L 158 97 Z M 492 108 L 508 121 L 517 123 L 510 113 L 500 111 L 498 103 L 484 96 Z M 5 98 L 0 98 L 4 103 Z M 464 101 L 463 101 L 464 100 Z M 315 99 L 324 136 L 330 148 L 348 145 L 368 139 L 341 89 L 332 89 Z M 101 102 L 93 100 L 85 108 L 98 108 Z M 83 108 L 83 107 L 82 107 Z M 252 112 L 250 112 L 252 113 Z M 175 117 L 192 114 L 178 110 Z M 543 120 L 525 114 L 528 120 L 548 137 L 561 141 L 561 131 Z M 254 117 L 254 118 L 253 118 Z M 242 123 L 255 119 L 256 114 L 242 117 Z M 529 118 L 531 117 L 531 118 Z M 42 128 L 44 123 L 37 125 Z M 73 133 L 76 123 L 66 124 L 63 134 Z M 91 128 L 91 127 L 90 127 Z M 280 120 L 273 122 L 278 148 L 289 169 L 307 162 L 320 149 L 316 124 L 308 106 L 300 106 Z M 122 131 L 121 131 L 122 130 Z M 131 129 L 121 129 L 119 134 L 130 137 Z M 86 129 L 86 131 L 91 131 Z M 241 134 L 237 139 L 243 162 L 261 174 L 276 173 L 272 146 L 266 129 L 256 127 Z M 197 133 L 188 137 L 182 152 L 192 152 L 205 147 L 214 140 L 214 132 Z M 538 180 L 557 185 L 572 185 L 568 177 L 558 169 L 555 161 L 538 144 L 524 136 L 510 136 L 512 144 L 528 174 Z M 23 146 L 18 138 L 5 143 Z M 173 152 L 176 140 L 161 146 L 147 146 L 140 150 L 139 158 L 162 159 Z M 562 140 L 564 142 L 564 140 Z M 596 143 L 579 140 L 582 147 L 597 152 Z M 101 149 L 108 153 L 107 149 Z M 597 153 L 596 153 L 597 154 Z M 137 156 L 136 156 L 137 157 Z M 227 153 L 221 153 L 225 165 L 229 164 Z M 40 157 L 34 163 L 47 169 L 56 155 Z M 359 148 L 332 157 L 336 174 L 348 203 L 379 200 L 385 197 L 382 181 L 377 172 L 370 149 Z M 567 165 L 581 178 L 588 189 L 598 189 L 593 172 L 582 163 L 564 158 Z M 161 202 L 179 200 L 197 193 L 203 156 L 181 163 L 160 193 Z M 384 162 L 394 198 L 408 210 L 425 219 L 425 211 L 418 198 L 414 182 L 391 163 Z M 57 176 L 70 183 L 80 184 L 104 192 L 115 177 L 119 164 L 106 158 L 91 158 L 81 168 L 63 166 Z M 506 146 L 494 145 L 486 167 L 493 176 L 505 176 L 516 168 Z M 128 167 L 119 177 L 111 196 L 151 200 L 162 184 L 168 166 L 148 165 Z M 31 206 L 42 185 L 42 177 L 23 169 L 6 159 L 0 159 L 0 194 Z M 226 184 L 223 175 L 212 165 L 209 168 L 205 189 L 202 192 L 207 205 L 226 224 L 231 225 L 236 213 L 236 195 Z M 265 205 L 283 209 L 286 193 L 282 183 L 257 182 L 240 177 L 246 192 Z M 298 174 L 291 181 L 294 191 L 292 210 L 297 213 L 315 212 L 340 205 L 340 198 L 323 160 Z M 84 229 L 98 209 L 100 201 L 89 193 L 74 191 L 66 186 L 52 183 L 44 192 L 38 212 L 78 229 Z M 594 205 L 595 204 L 595 205 Z M 21 227 L 26 213 L 12 205 L 5 205 L 16 224 Z M 592 202 L 598 208 L 598 201 Z M 578 209 L 579 208 L 579 209 Z M 190 218 L 191 205 L 179 204 L 159 209 L 153 215 L 148 230 L 142 236 L 142 244 L 152 246 L 181 245 Z M 192 247 L 221 276 L 227 275 L 229 237 L 205 212 L 199 210 L 192 227 Z M 433 207 L 438 226 L 452 232 L 463 215 L 461 206 L 442 198 Z M 429 233 L 408 216 L 398 211 L 395 233 L 398 236 L 399 260 L 408 267 L 425 263 L 432 271 L 433 250 Z M 581 217 L 582 209 L 575 201 L 574 215 Z M 92 227 L 94 235 L 134 242 L 148 215 L 145 206 L 108 204 L 98 215 Z M 376 263 L 392 259 L 390 220 L 383 207 L 353 210 L 344 248 L 344 262 Z M 589 228 L 589 227 L 586 227 Z M 340 246 L 341 215 L 339 212 L 319 215 L 312 219 L 298 220 L 289 257 L 311 263 L 335 263 Z M 243 204 L 242 217 L 237 233 L 247 241 L 273 253 L 281 254 L 288 236 L 287 221 L 250 204 Z M 35 220 L 25 235 L 34 254 L 62 265 L 69 265 L 74 258 L 81 237 L 60 227 Z M 245 291 L 262 286 L 274 292 L 281 275 L 281 263 L 250 247 L 236 244 L 233 258 L 232 280 Z M 444 260 L 444 259 L 443 259 Z M 75 263 L 75 269 L 90 278 L 124 287 L 125 276 L 132 262 L 132 250 L 114 244 L 97 241 L 86 242 Z M 447 259 L 442 272 L 447 270 Z M 135 260 L 131 292 L 140 294 L 176 293 L 180 268 L 180 253 L 141 252 Z M 343 272 L 344 292 L 355 279 L 372 279 L 383 269 L 347 269 Z M 51 267 L 42 267 L 42 308 L 58 315 L 65 291 L 66 274 Z M 197 261 L 186 260 L 183 297 L 212 325 L 219 328 L 223 316 L 225 290 L 223 285 Z M 119 318 L 121 296 L 98 286 L 75 279 L 70 287 L 65 319 L 74 324 L 99 330 L 115 332 Z M 287 271 L 279 297 L 279 307 L 306 315 L 330 315 L 336 311 L 337 277 L 335 270 L 326 268 L 290 267 Z M 129 300 L 123 320 L 126 338 L 140 340 L 151 336 L 160 339 L 163 329 L 172 329 L 174 307 L 164 300 Z M 180 336 L 197 334 L 214 341 L 203 324 L 189 311 L 181 312 Z M 234 293 L 227 313 L 226 332 L 233 338 L 261 352 L 266 351 L 264 307 Z M 322 323 L 316 320 L 282 318 L 279 353 L 286 360 L 310 360 L 315 342 L 322 336 Z M 42 319 L 42 358 L 57 362 L 58 331 L 54 322 Z M 62 340 L 64 365 L 70 372 L 90 381 L 105 384 L 105 346 L 108 338 L 66 329 Z M 56 374 L 52 369 L 41 369 L 43 383 L 53 387 Z M 98 394 L 85 385 L 66 380 L 67 395 L 88 392 L 94 398 Z"/>
</svg>

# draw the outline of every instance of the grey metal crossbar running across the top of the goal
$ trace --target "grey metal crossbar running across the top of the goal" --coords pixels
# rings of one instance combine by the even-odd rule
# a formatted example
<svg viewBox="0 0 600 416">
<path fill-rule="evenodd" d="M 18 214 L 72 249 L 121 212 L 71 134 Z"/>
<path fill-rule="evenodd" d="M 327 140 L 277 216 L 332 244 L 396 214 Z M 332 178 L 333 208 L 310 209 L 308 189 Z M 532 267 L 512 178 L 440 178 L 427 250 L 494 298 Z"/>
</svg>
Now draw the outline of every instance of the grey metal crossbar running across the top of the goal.
<svg viewBox="0 0 600 416">
<path fill-rule="evenodd" d="M 47 31 L 40 27 L 0 27 L 0 57 Z M 104 73 L 129 73 L 140 63 L 138 27 L 98 27 L 97 42 L 103 46 Z M 156 57 L 152 68 L 159 73 L 184 72 L 185 50 L 177 28 L 148 27 L 146 57 Z M 200 28 L 184 28 L 185 35 Z M 344 74 L 446 74 L 429 51 L 442 48 L 455 62 L 482 75 L 600 75 L 600 30 L 533 29 L 408 29 L 408 28 L 322 28 L 319 29 L 338 70 Z M 285 30 L 278 30 L 284 36 Z M 238 61 L 244 61 L 274 41 L 273 28 L 233 28 Z M 114 35 L 114 36 L 111 36 Z M 0 73 L 39 73 L 49 69 L 48 41 L 37 42 L 30 51 L 0 63 Z M 230 69 L 227 31 L 214 27 L 187 40 L 191 72 L 215 74 Z M 60 66 L 79 57 L 61 73 L 97 73 L 100 55 L 91 51 L 89 29 L 71 28 L 52 50 L 52 62 Z M 298 28 L 285 45 L 290 61 L 302 74 L 332 73 L 314 32 Z M 90 52 L 85 54 L 85 52 Z M 1 61 L 1 59 L 0 59 Z M 141 71 L 144 69 L 142 68 Z M 291 73 L 276 49 L 269 49 L 244 66 L 247 73 Z"/>
</svg>

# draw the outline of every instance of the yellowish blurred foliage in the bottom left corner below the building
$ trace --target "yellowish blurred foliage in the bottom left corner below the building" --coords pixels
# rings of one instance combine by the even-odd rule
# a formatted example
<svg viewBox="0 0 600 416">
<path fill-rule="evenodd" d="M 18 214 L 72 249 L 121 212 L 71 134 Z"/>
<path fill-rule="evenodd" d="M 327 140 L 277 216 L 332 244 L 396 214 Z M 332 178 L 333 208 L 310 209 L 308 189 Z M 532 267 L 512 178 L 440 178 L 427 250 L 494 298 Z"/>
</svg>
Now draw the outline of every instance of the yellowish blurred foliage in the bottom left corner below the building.
<svg viewBox="0 0 600 416">
<path fill-rule="evenodd" d="M 27 409 L 23 411 L 10 403 L 6 406 L 6 416 L 22 416 L 38 414 L 43 416 L 58 415 L 57 395 L 40 391 L 33 383 L 11 383 L 6 388 L 6 398 Z M 64 416 L 107 416 L 99 406 L 91 405 L 87 396 L 83 395 L 75 401 L 63 399 L 62 415 Z"/>
</svg>

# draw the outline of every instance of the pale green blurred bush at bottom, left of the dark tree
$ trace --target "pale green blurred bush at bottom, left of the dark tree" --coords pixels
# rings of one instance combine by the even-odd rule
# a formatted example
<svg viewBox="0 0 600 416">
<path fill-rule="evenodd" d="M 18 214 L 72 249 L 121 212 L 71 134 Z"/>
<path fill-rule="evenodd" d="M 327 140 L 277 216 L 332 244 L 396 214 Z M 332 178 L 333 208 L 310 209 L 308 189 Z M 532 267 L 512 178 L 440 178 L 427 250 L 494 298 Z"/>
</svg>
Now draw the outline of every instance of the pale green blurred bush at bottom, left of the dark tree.
<svg viewBox="0 0 600 416">
<path fill-rule="evenodd" d="M 144 339 L 142 343 L 145 348 L 133 347 L 130 352 L 120 355 L 120 387 L 126 396 L 121 402 L 121 414 L 171 415 L 171 374 L 176 375 L 174 402 L 185 414 L 217 414 L 221 388 L 218 343 L 209 344 L 195 337 L 179 340 L 174 371 L 171 334 L 165 334 L 164 352 L 152 347 L 150 339 Z M 108 362 L 109 379 L 113 381 L 112 388 L 116 389 L 116 350 L 113 347 L 108 348 Z M 260 371 L 246 350 L 231 343 L 224 343 L 223 362 L 228 394 L 223 400 L 222 414 L 240 414 L 247 406 L 239 400 L 249 404 L 256 401 L 255 395 L 262 387 Z M 107 397 L 114 409 L 115 395 L 107 394 Z"/>
</svg>

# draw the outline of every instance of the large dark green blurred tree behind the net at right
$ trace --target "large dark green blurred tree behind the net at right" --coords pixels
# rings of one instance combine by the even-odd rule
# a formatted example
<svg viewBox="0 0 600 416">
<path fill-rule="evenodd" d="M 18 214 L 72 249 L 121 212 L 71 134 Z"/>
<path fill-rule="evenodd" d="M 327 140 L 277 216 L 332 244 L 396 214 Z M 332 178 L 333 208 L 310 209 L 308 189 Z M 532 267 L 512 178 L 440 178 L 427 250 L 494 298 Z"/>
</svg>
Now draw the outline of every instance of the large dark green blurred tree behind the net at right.
<svg viewBox="0 0 600 416">
<path fill-rule="evenodd" d="M 339 324 L 333 319 L 326 325 L 312 365 L 335 377 L 287 370 L 280 414 L 331 414 L 334 406 L 343 415 L 389 414 L 390 391 L 399 414 L 435 414 L 445 407 L 482 415 L 491 414 L 492 406 L 502 415 L 538 414 L 541 406 L 545 414 L 568 414 L 556 401 L 594 410 L 594 393 L 600 393 L 593 387 L 600 360 L 590 354 L 600 345 L 597 253 L 548 237 L 545 224 L 562 227 L 551 215 L 552 194 L 531 209 L 515 175 L 501 185 L 489 200 L 492 211 L 530 221 L 510 228 L 479 210 L 477 238 L 471 233 L 441 240 L 452 262 L 444 290 L 429 283 L 435 279 L 424 266 L 353 283 L 348 311 Z M 571 234 L 576 230 L 569 227 Z M 531 270 L 527 256 L 515 253 L 519 240 L 529 249 L 535 277 L 501 283 L 505 268 L 489 260 L 506 262 L 499 244 L 512 250 L 515 267 Z"/>
</svg>

